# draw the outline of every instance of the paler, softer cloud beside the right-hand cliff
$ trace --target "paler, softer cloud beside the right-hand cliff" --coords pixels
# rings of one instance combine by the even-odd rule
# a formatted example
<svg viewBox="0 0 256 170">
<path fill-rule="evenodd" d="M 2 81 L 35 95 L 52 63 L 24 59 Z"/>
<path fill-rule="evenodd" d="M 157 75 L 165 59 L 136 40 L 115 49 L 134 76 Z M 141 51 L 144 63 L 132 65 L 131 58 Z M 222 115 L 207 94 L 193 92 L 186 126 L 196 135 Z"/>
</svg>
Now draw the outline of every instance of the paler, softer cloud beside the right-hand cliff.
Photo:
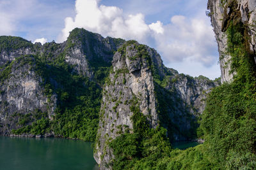
<svg viewBox="0 0 256 170">
<path fill-rule="evenodd" d="M 168 62 L 182 62 L 189 58 L 205 66 L 216 64 L 216 42 L 211 25 L 205 18 L 173 16 L 164 25 L 164 34 L 155 34 L 157 49 Z"/>
</svg>

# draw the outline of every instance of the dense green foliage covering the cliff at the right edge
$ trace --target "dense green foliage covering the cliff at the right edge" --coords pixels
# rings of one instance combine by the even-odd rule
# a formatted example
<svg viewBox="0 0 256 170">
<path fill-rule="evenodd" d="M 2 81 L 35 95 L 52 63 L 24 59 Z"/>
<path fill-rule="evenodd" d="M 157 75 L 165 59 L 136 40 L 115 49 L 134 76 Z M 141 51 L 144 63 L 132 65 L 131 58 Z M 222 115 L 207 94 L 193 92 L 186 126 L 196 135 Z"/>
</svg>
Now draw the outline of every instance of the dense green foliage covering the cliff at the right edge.
<svg viewBox="0 0 256 170">
<path fill-rule="evenodd" d="M 228 26 L 227 53 L 235 72 L 232 83 L 212 90 L 200 128 L 221 169 L 256 167 L 256 72 L 246 25 Z"/>
</svg>

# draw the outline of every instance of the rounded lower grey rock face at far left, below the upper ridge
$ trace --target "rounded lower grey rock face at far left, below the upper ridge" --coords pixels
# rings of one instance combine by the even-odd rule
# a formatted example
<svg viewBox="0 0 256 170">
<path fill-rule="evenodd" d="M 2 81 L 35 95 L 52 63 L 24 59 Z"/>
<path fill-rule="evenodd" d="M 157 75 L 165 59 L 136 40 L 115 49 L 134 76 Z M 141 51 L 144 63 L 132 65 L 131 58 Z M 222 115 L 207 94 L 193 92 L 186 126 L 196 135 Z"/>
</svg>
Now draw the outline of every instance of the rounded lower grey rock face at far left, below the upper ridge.
<svg viewBox="0 0 256 170">
<path fill-rule="evenodd" d="M 40 110 L 49 119 L 54 115 L 56 95 L 47 97 L 41 85 L 42 78 L 33 69 L 33 57 L 13 60 L 4 67 L 0 85 L 0 134 L 8 135 L 12 129 L 26 125 L 32 119 L 31 113 Z M 22 118 L 28 115 L 28 118 Z M 28 121 L 28 122 L 27 122 Z"/>
</svg>

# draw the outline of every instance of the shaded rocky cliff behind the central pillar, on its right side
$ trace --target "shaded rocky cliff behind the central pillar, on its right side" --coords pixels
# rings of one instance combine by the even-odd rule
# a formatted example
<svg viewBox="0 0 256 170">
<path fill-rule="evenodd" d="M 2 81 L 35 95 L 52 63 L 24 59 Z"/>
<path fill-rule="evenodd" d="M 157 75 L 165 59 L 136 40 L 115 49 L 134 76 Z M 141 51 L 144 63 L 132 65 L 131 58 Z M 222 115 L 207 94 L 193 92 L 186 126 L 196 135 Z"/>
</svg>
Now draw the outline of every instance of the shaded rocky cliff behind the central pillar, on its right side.
<svg viewBox="0 0 256 170">
<path fill-rule="evenodd" d="M 170 141 L 196 138 L 196 122 L 204 111 L 207 93 L 218 85 L 220 78 L 212 81 L 204 76 L 179 74 L 173 69 L 165 72 L 163 80 L 156 83 L 156 94 L 160 122 L 168 130 Z"/>
</svg>

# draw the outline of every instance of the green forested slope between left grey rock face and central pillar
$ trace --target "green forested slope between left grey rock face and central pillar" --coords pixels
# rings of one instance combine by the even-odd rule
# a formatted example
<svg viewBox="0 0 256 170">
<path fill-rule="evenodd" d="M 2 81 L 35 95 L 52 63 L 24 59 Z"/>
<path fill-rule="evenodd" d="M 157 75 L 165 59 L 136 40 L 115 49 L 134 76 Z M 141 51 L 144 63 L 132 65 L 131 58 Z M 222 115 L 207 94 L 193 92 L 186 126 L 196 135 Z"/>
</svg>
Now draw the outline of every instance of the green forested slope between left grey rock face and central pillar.
<svg viewBox="0 0 256 170">
<path fill-rule="evenodd" d="M 51 54 L 16 59 L 16 62 L 19 60 L 31 65 L 31 69 L 42 77 L 48 101 L 53 102 L 51 96 L 57 95 L 58 103 L 53 120 L 28 114 L 31 115 L 30 121 L 20 124 L 19 129 L 12 131 L 14 134 L 54 132 L 56 136 L 94 141 L 99 123 L 101 88 L 87 76 L 74 73 L 63 55 L 60 53 L 54 59 L 50 59 Z"/>
</svg>

